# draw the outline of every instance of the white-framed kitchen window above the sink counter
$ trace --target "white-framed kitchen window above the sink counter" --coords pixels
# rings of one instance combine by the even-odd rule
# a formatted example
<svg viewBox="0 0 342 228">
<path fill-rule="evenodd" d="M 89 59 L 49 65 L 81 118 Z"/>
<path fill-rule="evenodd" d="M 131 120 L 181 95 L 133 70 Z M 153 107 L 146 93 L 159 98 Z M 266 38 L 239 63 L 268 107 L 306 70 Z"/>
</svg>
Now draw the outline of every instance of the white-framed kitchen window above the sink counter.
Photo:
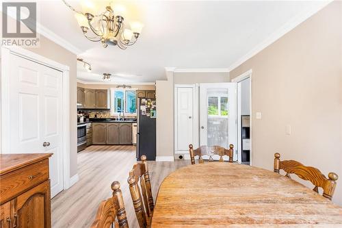
<svg viewBox="0 0 342 228">
<path fill-rule="evenodd" d="M 135 90 L 111 88 L 111 115 L 136 114 L 136 102 Z"/>
</svg>

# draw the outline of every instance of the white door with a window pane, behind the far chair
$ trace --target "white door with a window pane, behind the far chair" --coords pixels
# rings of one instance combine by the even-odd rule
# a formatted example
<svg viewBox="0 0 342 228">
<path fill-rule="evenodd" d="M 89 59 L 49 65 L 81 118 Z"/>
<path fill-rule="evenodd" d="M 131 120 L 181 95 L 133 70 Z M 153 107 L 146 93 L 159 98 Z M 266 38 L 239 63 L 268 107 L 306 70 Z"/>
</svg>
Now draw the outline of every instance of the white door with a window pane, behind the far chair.
<svg viewBox="0 0 342 228">
<path fill-rule="evenodd" d="M 236 121 L 236 83 L 200 84 L 200 146 L 236 147 Z"/>
</svg>

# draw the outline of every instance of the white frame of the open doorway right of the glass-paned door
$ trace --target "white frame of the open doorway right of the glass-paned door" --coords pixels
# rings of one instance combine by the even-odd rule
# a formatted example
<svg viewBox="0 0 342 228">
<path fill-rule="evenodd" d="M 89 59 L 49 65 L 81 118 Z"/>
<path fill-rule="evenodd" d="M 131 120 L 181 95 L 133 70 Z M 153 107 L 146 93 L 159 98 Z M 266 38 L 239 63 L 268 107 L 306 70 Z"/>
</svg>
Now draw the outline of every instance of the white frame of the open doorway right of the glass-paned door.
<svg viewBox="0 0 342 228">
<path fill-rule="evenodd" d="M 247 78 L 250 78 L 250 165 L 252 166 L 252 69 L 242 73 L 232 79 L 232 82 L 239 83 Z M 237 153 L 238 162 L 241 162 L 241 91 L 237 89 Z"/>
</svg>

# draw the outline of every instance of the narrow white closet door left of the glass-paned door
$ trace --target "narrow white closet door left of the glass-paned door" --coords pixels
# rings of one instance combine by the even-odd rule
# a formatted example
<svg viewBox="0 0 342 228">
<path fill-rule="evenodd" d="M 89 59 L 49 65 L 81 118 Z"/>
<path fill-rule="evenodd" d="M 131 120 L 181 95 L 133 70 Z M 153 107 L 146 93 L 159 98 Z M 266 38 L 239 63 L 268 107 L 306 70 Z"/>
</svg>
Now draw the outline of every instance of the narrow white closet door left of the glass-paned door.
<svg viewBox="0 0 342 228">
<path fill-rule="evenodd" d="M 176 153 L 187 153 L 194 142 L 194 88 L 176 88 Z"/>
</svg>

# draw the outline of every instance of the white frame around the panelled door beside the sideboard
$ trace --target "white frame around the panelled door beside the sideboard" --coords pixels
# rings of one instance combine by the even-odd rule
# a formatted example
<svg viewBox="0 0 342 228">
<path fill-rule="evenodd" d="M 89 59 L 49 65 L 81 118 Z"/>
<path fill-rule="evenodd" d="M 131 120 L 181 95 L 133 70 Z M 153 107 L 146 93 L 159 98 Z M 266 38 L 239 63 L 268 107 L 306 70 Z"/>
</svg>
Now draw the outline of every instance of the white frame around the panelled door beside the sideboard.
<svg viewBox="0 0 342 228">
<path fill-rule="evenodd" d="M 49 60 L 34 52 L 21 47 L 1 47 L 1 135 L 0 148 L 6 151 L 9 148 L 10 139 L 10 96 L 9 96 L 9 76 L 10 76 L 10 55 L 18 55 L 21 58 L 37 62 L 44 66 L 49 66 L 62 72 L 62 162 L 63 162 L 63 189 L 70 188 L 70 90 L 69 90 L 69 66 Z M 75 126 L 76 127 L 76 126 Z M 0 151 L 0 153 L 1 153 Z"/>
</svg>

